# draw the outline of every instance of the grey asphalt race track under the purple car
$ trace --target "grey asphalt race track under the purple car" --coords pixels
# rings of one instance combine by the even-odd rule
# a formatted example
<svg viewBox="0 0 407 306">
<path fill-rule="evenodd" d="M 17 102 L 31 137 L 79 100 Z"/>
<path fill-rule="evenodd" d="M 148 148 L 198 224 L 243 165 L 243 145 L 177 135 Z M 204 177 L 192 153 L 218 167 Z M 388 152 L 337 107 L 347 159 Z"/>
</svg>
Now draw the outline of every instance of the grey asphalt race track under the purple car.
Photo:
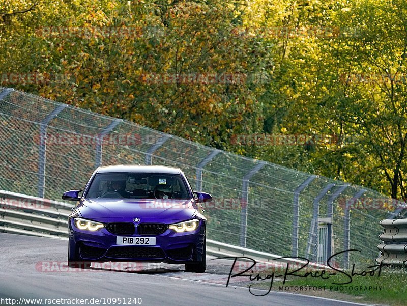
<svg viewBox="0 0 407 306">
<path fill-rule="evenodd" d="M 202 274 L 184 272 L 184 265 L 129 267 L 126 263 L 72 271 L 66 266 L 67 248 L 67 241 L 0 233 L 0 304 L 11 304 L 9 298 L 16 299 L 16 304 L 27 304 L 20 298 L 55 299 L 55 304 L 59 302 L 56 299 L 88 299 L 86 305 L 93 298 L 100 299 L 101 304 L 113 304 L 115 298 L 116 304 L 134 305 L 140 302 L 134 298 L 141 298 L 141 305 L 153 306 L 357 305 L 278 291 L 254 296 L 244 287 L 242 277 L 236 277 L 226 287 L 232 261 L 225 259 L 209 260 L 208 270 Z M 253 293 L 260 295 L 266 291 Z M 69 301 L 60 302 L 69 304 Z"/>
</svg>

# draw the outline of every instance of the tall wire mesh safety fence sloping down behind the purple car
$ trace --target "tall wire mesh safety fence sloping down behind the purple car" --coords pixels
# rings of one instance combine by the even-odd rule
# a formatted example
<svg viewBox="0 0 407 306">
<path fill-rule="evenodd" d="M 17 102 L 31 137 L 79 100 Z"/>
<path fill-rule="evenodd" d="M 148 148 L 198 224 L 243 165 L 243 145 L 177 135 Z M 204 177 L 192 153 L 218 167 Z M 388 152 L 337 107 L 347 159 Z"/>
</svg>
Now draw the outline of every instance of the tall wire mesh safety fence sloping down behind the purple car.
<svg viewBox="0 0 407 306">
<path fill-rule="evenodd" d="M 109 125 L 115 126 L 108 130 Z M 296 237 L 295 193 L 309 174 L 265 163 L 245 184 L 245 176 L 258 160 L 223 151 L 208 159 L 212 148 L 1 87 L 0 134 L 3 190 L 60 200 L 64 191 L 83 188 L 99 163 L 175 166 L 185 172 L 194 189 L 201 186 L 214 197 L 214 202 L 204 205 L 208 238 L 280 256 L 293 255 L 298 245 L 298 256 L 314 261 L 324 249 L 315 229 L 326 226 L 326 221 L 318 222 L 318 217 L 329 215 L 330 197 L 345 184 L 317 176 L 304 185 L 298 193 Z M 205 166 L 200 169 L 202 161 Z M 328 184 L 334 185 L 321 194 Z M 363 193 L 355 201 L 352 198 L 358 191 Z M 322 198 L 315 215 L 318 195 Z M 370 206 L 365 205 L 368 201 Z M 377 258 L 377 235 L 382 231 L 379 221 L 400 210 L 399 204 L 374 190 L 346 186 L 332 203 L 332 254 L 347 245 L 361 252 L 352 252 L 348 258 L 342 254 L 336 257 L 337 264 Z"/>
</svg>

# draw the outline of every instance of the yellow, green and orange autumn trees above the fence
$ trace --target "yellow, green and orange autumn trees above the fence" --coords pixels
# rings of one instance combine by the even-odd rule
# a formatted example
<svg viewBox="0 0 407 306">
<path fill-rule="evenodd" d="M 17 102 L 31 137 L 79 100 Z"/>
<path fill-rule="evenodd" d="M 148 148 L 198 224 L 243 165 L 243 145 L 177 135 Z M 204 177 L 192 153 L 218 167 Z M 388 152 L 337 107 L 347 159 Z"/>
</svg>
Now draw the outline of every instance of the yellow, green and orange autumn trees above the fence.
<svg viewBox="0 0 407 306">
<path fill-rule="evenodd" d="M 400 0 L 10 0 L 0 85 L 406 198 L 405 16 Z M 236 141 L 261 134 L 307 142 Z"/>
</svg>

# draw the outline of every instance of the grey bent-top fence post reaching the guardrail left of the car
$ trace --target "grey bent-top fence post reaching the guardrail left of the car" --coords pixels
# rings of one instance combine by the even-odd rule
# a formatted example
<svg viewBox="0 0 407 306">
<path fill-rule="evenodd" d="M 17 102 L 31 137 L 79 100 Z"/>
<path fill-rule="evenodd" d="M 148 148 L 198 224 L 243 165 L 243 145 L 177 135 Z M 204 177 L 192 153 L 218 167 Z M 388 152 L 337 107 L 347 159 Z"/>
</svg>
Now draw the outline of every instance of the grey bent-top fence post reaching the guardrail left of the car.
<svg viewBox="0 0 407 306">
<path fill-rule="evenodd" d="M 45 155 L 47 150 L 47 126 L 49 122 L 58 116 L 67 104 L 61 104 L 52 110 L 51 114 L 40 123 L 40 148 L 38 152 L 38 197 L 45 198 Z"/>
</svg>

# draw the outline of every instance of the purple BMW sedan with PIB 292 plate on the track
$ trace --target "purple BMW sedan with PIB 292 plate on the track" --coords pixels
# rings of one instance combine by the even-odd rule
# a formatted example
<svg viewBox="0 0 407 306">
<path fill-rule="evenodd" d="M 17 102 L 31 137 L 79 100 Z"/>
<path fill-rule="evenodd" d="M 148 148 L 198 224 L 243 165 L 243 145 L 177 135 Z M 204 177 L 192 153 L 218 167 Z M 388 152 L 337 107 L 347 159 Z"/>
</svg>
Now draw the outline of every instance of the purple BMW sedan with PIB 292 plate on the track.
<svg viewBox="0 0 407 306">
<path fill-rule="evenodd" d="M 80 196 L 81 192 L 82 195 Z M 135 261 L 185 263 L 206 270 L 206 218 L 199 203 L 210 194 L 193 192 L 181 169 L 113 165 L 96 169 L 69 216 L 68 264 Z"/>
</svg>

